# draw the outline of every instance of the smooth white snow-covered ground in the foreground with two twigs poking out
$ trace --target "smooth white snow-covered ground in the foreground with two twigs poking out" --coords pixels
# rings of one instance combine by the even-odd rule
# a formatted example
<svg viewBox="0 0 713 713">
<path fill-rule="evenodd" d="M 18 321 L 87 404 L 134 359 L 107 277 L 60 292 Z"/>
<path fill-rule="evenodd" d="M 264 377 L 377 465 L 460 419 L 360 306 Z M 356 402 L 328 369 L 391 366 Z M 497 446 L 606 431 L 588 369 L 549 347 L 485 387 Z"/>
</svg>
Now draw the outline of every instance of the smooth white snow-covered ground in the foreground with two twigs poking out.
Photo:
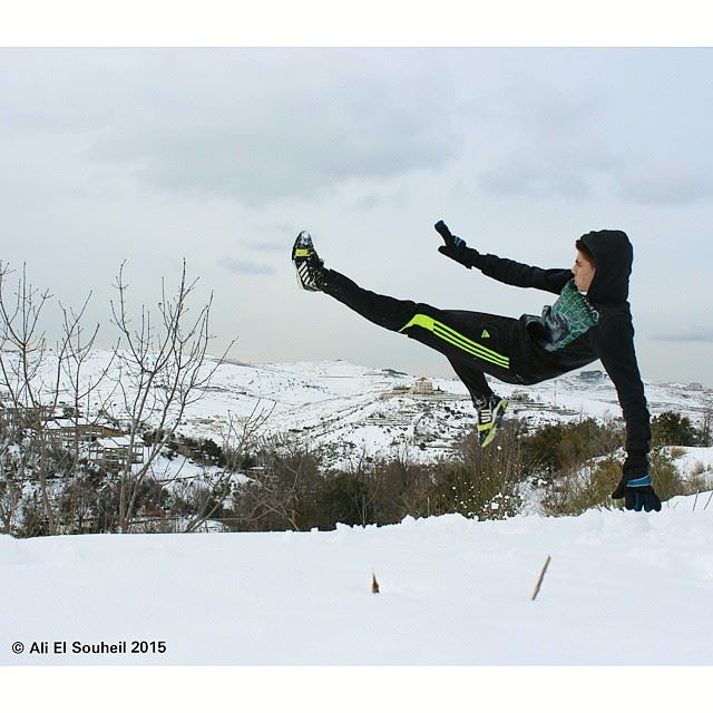
<svg viewBox="0 0 713 713">
<path fill-rule="evenodd" d="M 711 494 L 660 514 L 3 536 L 0 569 L 0 664 L 713 664 Z"/>
</svg>

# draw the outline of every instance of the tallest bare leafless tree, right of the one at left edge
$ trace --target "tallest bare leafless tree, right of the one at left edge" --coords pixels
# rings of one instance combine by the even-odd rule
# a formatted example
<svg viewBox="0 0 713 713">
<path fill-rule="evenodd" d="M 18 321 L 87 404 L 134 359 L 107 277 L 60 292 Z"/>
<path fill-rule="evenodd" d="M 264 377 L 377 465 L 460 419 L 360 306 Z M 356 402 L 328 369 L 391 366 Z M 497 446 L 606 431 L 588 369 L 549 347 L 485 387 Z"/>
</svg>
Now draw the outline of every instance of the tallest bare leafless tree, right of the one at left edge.
<svg viewBox="0 0 713 713">
<path fill-rule="evenodd" d="M 119 365 L 118 388 L 123 395 L 121 419 L 125 422 L 128 452 L 141 443 L 141 434 L 150 430 L 153 438 L 145 449 L 141 463 L 127 459 L 120 469 L 119 527 L 131 527 L 141 485 L 162 449 L 174 436 L 186 409 L 203 397 L 204 390 L 221 365 L 207 354 L 208 331 L 213 295 L 194 315 L 191 297 L 197 280 L 188 281 L 186 261 L 183 261 L 179 285 L 168 294 L 162 280 L 162 301 L 158 318 L 141 306 L 140 319 L 134 325 L 128 314 L 128 284 L 121 264 L 111 301 L 114 323 L 120 333 L 120 348 L 116 350 Z"/>
</svg>

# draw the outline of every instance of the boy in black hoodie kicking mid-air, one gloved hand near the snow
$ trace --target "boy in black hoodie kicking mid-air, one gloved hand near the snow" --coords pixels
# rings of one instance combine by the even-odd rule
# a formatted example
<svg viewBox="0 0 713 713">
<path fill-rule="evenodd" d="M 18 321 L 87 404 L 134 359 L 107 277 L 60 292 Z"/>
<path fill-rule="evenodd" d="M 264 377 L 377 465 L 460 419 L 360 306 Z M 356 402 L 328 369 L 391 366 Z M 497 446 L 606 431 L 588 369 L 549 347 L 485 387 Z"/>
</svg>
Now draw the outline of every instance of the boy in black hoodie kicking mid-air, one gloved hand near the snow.
<svg viewBox="0 0 713 713">
<path fill-rule="evenodd" d="M 628 297 L 632 244 L 622 231 L 595 231 L 576 241 L 569 268 L 543 270 L 482 255 L 452 235 L 439 221 L 445 245 L 438 250 L 469 270 L 518 287 L 558 295 L 540 316 L 519 319 L 438 310 L 428 304 L 375 294 L 329 270 L 306 231 L 297 235 L 292 260 L 304 290 L 324 292 L 374 324 L 406 334 L 446 355 L 466 384 L 478 414 L 478 436 L 486 447 L 508 407 L 485 374 L 515 384 L 538 383 L 599 359 L 609 374 L 626 422 L 626 460 L 613 498 L 628 510 L 661 510 L 648 470 L 649 414 L 636 353 Z"/>
</svg>

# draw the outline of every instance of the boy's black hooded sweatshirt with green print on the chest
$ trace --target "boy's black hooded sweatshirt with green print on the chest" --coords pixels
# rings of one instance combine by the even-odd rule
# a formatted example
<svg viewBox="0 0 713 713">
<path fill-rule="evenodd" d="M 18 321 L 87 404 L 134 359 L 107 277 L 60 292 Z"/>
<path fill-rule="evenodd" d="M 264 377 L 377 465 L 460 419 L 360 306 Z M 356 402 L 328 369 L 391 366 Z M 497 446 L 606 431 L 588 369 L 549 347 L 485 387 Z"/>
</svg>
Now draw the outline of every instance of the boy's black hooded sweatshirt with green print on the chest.
<svg viewBox="0 0 713 713">
<path fill-rule="evenodd" d="M 583 235 L 582 242 L 596 262 L 586 296 L 576 291 L 568 268 L 543 270 L 470 248 L 467 260 L 499 282 L 560 295 L 541 316 L 524 314 L 519 319 L 520 339 L 517 353 L 511 355 L 512 368 L 522 383 L 536 383 L 599 359 L 616 388 L 626 422 L 624 473 L 645 475 L 651 428 L 628 303 L 632 244 L 622 231 L 595 231 Z"/>
</svg>

